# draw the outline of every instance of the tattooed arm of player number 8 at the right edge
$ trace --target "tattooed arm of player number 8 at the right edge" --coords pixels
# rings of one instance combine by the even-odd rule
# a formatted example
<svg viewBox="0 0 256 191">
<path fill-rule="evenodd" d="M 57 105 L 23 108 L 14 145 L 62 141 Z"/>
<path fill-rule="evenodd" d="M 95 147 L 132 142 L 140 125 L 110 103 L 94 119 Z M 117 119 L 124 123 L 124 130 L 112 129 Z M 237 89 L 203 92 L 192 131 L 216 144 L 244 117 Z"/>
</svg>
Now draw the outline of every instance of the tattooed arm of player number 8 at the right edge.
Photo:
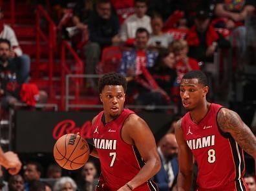
<svg viewBox="0 0 256 191">
<path fill-rule="evenodd" d="M 242 149 L 256 159 L 256 137 L 236 112 L 221 108 L 217 122 L 223 132 L 231 134 Z"/>
</svg>

